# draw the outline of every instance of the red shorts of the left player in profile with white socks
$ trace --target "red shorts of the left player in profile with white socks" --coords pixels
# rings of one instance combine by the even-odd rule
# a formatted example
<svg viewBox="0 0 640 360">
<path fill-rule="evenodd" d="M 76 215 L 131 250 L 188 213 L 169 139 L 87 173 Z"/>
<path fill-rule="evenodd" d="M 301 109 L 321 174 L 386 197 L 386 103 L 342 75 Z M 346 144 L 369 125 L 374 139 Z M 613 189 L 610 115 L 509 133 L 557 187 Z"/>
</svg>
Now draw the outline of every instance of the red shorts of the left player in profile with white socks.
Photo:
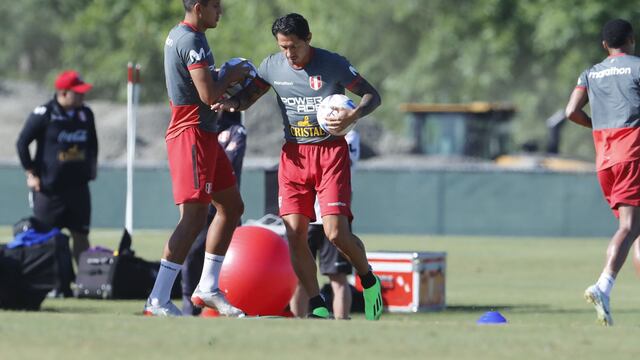
<svg viewBox="0 0 640 360">
<path fill-rule="evenodd" d="M 176 204 L 210 203 L 211 194 L 236 184 L 218 134 L 189 127 L 167 139 L 169 172 Z"/>
</svg>

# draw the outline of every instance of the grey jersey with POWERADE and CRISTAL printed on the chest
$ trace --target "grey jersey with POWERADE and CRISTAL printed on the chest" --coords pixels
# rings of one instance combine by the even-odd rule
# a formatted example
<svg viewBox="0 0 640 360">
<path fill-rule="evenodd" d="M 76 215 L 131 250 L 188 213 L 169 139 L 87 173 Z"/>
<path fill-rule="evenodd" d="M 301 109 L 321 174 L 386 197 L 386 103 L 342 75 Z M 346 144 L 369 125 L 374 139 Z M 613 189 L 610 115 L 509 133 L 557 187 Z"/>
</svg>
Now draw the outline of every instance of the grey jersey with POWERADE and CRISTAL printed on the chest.
<svg viewBox="0 0 640 360">
<path fill-rule="evenodd" d="M 311 51 L 302 69 L 292 68 L 282 52 L 264 59 L 258 69 L 258 76 L 277 93 L 285 139 L 299 144 L 335 138 L 318 125 L 318 105 L 329 95 L 344 94 L 360 79 L 343 56 L 319 48 Z"/>
</svg>

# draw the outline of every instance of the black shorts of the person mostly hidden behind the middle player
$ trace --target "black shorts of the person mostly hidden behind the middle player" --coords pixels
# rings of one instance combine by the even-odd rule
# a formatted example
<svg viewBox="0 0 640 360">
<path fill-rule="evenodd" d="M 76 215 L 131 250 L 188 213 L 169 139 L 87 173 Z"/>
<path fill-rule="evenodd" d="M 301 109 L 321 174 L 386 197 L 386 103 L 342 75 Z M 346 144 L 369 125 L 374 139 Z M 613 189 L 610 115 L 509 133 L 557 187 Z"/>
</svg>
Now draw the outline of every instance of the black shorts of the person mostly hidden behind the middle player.
<svg viewBox="0 0 640 360">
<path fill-rule="evenodd" d="M 322 275 L 351 274 L 351 264 L 326 236 L 322 225 L 309 225 L 309 248 L 320 263 Z"/>
</svg>

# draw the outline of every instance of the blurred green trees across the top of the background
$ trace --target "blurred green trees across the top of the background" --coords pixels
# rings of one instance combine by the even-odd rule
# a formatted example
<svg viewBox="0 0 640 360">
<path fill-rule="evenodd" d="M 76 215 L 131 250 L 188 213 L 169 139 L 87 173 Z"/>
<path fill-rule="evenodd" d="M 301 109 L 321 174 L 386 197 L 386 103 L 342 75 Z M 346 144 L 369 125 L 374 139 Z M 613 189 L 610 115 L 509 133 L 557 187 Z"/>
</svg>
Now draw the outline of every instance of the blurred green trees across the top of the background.
<svg viewBox="0 0 640 360">
<path fill-rule="evenodd" d="M 312 44 L 345 55 L 380 90 L 378 121 L 401 131 L 404 102 L 511 102 L 514 140 L 544 142 L 580 72 L 601 61 L 600 29 L 640 10 L 628 0 L 223 0 L 207 32 L 217 63 L 258 64 L 277 51 L 273 20 L 303 14 Z M 179 0 L 23 0 L 0 3 L 0 76 L 51 83 L 66 68 L 124 99 L 127 62 L 142 65 L 143 100 L 165 102 L 163 44 Z M 640 28 L 640 26 L 638 26 Z M 590 133 L 565 128 L 561 153 L 590 158 Z"/>
</svg>

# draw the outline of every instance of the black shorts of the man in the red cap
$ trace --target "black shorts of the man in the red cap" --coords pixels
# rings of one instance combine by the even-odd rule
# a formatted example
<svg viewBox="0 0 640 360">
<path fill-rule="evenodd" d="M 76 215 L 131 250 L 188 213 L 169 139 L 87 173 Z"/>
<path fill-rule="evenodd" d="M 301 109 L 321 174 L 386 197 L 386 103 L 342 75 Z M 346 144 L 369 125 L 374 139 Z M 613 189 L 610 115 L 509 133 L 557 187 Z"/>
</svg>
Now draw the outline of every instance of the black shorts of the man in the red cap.
<svg viewBox="0 0 640 360">
<path fill-rule="evenodd" d="M 81 234 L 89 233 L 91 194 L 89 185 L 61 191 L 34 191 L 33 215 L 40 221 Z"/>
</svg>

